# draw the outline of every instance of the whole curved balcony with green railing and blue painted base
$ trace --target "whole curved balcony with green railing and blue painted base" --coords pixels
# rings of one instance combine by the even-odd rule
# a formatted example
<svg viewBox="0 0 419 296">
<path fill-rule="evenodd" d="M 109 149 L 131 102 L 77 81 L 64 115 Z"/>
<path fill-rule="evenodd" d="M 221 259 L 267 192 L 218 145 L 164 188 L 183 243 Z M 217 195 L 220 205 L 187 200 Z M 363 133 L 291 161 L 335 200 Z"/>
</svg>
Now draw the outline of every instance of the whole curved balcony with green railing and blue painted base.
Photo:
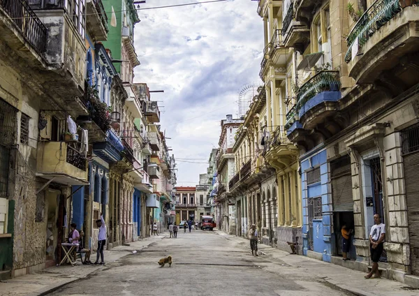
<svg viewBox="0 0 419 296">
<path fill-rule="evenodd" d="M 340 85 L 339 71 L 320 71 L 302 84 L 297 94 L 295 110 L 304 128 L 314 128 L 330 112 L 336 111 L 337 101 L 341 98 Z M 309 111 L 310 114 L 307 114 Z M 306 122 L 309 117 L 311 121 Z"/>
</svg>

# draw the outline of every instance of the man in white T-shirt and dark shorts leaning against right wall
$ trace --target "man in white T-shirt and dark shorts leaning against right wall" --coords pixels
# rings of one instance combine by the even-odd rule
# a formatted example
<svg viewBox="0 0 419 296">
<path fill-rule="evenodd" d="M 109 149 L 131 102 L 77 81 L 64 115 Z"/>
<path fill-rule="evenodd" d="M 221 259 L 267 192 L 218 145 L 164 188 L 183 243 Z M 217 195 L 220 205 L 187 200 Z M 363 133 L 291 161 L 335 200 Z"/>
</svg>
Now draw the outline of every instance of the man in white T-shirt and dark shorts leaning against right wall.
<svg viewBox="0 0 419 296">
<path fill-rule="evenodd" d="M 365 279 L 377 279 L 380 277 L 378 271 L 378 261 L 380 260 L 381 253 L 383 253 L 383 243 L 385 239 L 385 224 L 381 223 L 379 214 L 374 215 L 375 225 L 372 226 L 369 232 L 369 250 L 371 251 L 372 269 L 367 274 Z"/>
</svg>

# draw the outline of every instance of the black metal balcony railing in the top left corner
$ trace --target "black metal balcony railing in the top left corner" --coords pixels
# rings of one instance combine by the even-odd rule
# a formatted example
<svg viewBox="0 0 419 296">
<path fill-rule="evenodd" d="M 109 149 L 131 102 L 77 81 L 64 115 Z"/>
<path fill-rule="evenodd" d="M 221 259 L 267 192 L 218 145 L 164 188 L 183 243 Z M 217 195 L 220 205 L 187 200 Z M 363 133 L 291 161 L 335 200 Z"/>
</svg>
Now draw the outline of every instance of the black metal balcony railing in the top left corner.
<svg viewBox="0 0 419 296">
<path fill-rule="evenodd" d="M 27 40 L 38 52 L 45 52 L 47 44 L 47 28 L 31 9 L 26 0 L 0 0 L 0 6 L 10 16 Z"/>
</svg>

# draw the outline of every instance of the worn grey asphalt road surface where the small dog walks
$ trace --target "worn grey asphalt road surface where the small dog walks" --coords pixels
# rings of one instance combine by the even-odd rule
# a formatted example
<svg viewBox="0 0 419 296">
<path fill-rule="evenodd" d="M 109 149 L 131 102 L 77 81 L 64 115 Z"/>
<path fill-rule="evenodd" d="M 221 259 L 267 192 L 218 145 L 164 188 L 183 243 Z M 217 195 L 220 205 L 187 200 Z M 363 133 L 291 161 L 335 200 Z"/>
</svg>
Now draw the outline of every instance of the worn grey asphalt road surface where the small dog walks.
<svg viewBox="0 0 419 296">
<path fill-rule="evenodd" d="M 172 256 L 172 267 L 160 258 Z M 108 262 L 89 278 L 50 295 L 352 295 L 336 290 L 318 275 L 278 268 L 281 262 L 253 257 L 244 242 L 217 232 L 178 232 L 147 249 Z"/>
</svg>

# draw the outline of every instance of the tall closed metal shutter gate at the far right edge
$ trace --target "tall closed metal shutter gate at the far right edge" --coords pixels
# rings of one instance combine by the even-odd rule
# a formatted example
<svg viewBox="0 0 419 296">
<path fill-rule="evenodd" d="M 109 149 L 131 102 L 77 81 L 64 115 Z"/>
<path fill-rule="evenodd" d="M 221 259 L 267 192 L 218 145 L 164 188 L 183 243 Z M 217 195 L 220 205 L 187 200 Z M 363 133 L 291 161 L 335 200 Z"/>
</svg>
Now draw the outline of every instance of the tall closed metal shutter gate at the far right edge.
<svg viewBox="0 0 419 296">
<path fill-rule="evenodd" d="M 406 187 L 412 274 L 419 275 L 419 124 L 402 131 L 404 183 Z"/>
</svg>

